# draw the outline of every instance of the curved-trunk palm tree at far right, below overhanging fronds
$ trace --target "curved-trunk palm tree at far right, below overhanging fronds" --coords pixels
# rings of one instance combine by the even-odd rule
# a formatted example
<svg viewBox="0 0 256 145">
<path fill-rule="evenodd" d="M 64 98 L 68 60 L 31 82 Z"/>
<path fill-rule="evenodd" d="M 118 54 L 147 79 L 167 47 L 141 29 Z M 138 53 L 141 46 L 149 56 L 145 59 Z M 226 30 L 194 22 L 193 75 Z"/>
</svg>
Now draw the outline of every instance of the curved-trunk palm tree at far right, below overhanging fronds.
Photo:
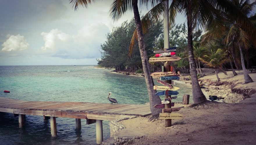
<svg viewBox="0 0 256 145">
<path fill-rule="evenodd" d="M 250 12 L 253 10 L 253 7 L 256 5 L 256 2 L 250 3 L 250 1 L 248 0 L 232 0 L 232 3 L 235 6 L 237 6 L 237 8 L 239 8 L 239 10 L 243 12 L 244 15 L 246 16 L 250 14 Z M 248 71 L 246 70 L 244 64 L 243 49 L 248 50 L 250 42 L 256 44 L 256 40 L 254 36 L 255 33 L 248 31 L 249 28 L 244 28 L 242 26 L 242 22 L 233 21 L 233 24 L 230 27 L 230 30 L 226 37 L 226 43 L 228 43 L 230 39 L 236 40 L 241 56 L 241 65 L 243 69 L 244 82 L 250 83 L 253 82 L 253 80 L 249 76 Z M 255 30 L 255 27 L 253 28 Z"/>
</svg>

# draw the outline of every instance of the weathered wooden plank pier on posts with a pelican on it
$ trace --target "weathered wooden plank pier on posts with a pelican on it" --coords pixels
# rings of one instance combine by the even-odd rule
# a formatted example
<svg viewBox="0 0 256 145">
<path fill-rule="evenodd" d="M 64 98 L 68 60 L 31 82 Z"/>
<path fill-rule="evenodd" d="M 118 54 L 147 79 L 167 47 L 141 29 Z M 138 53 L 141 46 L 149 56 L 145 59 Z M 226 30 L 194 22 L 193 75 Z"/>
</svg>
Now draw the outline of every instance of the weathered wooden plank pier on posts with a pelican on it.
<svg viewBox="0 0 256 145">
<path fill-rule="evenodd" d="M 52 137 L 57 136 L 56 117 L 76 118 L 77 128 L 81 128 L 81 119 L 86 119 L 87 124 L 96 124 L 97 144 L 103 141 L 102 120 L 111 121 L 132 115 L 144 117 L 151 114 L 149 105 L 22 101 L 5 97 L 0 97 L 0 112 L 19 116 L 19 128 L 24 127 L 25 115 L 44 116 L 44 119 L 50 119 Z"/>
</svg>

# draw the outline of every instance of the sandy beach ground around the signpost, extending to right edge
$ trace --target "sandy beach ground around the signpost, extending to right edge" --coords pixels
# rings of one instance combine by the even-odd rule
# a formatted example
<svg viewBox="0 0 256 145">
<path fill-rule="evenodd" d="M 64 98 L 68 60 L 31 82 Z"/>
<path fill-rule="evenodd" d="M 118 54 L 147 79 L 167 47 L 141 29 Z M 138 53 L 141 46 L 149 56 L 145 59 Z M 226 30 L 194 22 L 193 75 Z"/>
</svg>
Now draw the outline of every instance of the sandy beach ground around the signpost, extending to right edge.
<svg viewBox="0 0 256 145">
<path fill-rule="evenodd" d="M 203 69 L 199 80 L 208 95 L 221 96 L 225 103 L 208 101 L 204 106 L 186 105 L 179 113 L 183 119 L 172 119 L 171 127 L 164 120 L 149 121 L 137 117 L 121 121 L 126 128 L 146 133 L 148 136 L 125 144 L 255 144 L 256 142 L 256 73 L 250 73 L 254 82 L 244 84 L 243 72 L 220 72 L 217 81 L 213 69 Z M 180 81 L 188 76 L 181 76 Z M 209 99 L 209 96 L 206 96 Z M 180 104 L 175 104 L 180 105 Z M 136 122 L 136 123 L 135 123 Z"/>
</svg>

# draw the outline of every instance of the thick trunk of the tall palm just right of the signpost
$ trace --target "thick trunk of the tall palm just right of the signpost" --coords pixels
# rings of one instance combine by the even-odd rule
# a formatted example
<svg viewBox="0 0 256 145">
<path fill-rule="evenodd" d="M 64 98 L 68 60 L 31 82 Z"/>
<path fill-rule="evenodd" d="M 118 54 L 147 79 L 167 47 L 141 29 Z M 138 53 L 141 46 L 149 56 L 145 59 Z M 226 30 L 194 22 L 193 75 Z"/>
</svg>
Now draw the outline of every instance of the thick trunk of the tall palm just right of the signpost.
<svg viewBox="0 0 256 145">
<path fill-rule="evenodd" d="M 194 104 L 200 104 L 206 102 L 205 95 L 203 94 L 195 70 L 195 57 L 193 52 L 193 42 L 192 42 L 192 2 L 188 1 L 188 7 L 186 11 L 187 24 L 188 24 L 188 51 L 189 51 L 189 67 L 192 85 L 192 94 Z"/>
</svg>

